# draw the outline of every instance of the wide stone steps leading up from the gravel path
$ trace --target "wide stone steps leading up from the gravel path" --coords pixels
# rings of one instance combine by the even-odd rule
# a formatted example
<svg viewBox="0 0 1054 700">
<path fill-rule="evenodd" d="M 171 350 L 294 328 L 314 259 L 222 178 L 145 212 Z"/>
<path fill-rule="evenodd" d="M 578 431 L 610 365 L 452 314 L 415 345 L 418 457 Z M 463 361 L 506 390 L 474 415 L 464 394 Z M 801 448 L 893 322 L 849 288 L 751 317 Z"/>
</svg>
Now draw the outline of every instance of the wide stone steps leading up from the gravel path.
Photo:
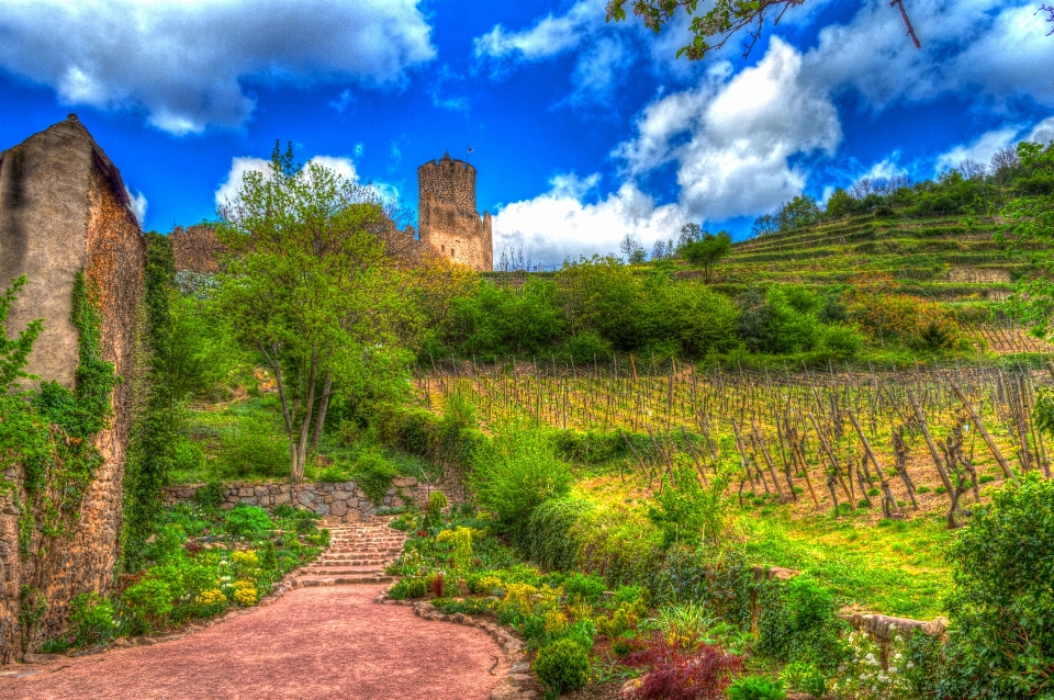
<svg viewBox="0 0 1054 700">
<path fill-rule="evenodd" d="M 384 568 L 403 551 L 406 535 L 388 527 L 391 518 L 330 528 L 329 549 L 293 578 L 293 585 L 347 586 L 394 580 Z"/>
</svg>

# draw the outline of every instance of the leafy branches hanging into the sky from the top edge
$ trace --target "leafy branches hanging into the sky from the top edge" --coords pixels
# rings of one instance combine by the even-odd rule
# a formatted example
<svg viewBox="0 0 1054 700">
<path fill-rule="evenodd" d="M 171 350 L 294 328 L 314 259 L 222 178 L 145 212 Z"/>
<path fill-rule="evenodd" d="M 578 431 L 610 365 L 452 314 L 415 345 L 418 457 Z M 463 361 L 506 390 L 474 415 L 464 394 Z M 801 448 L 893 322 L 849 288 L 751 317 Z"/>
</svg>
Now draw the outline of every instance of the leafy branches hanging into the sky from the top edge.
<svg viewBox="0 0 1054 700">
<path fill-rule="evenodd" d="M 699 60 L 708 53 L 725 46 L 728 39 L 742 30 L 747 30 L 749 34 L 743 42 L 743 57 L 747 57 L 761 38 L 766 19 L 771 19 L 772 24 L 776 25 L 787 10 L 804 3 L 805 0 L 716 0 L 713 5 L 704 4 L 710 8 L 705 13 L 696 14 L 699 0 L 609 0 L 607 21 L 624 22 L 626 5 L 631 4 L 633 14 L 641 19 L 644 26 L 658 34 L 683 10 L 692 16 L 692 43 L 677 50 L 677 58 L 687 56 L 688 60 Z M 904 1 L 893 0 L 889 5 L 900 11 L 900 18 L 915 47 L 922 48 L 904 9 Z M 1054 11 L 1051 12 L 1051 21 L 1054 22 Z"/>
</svg>

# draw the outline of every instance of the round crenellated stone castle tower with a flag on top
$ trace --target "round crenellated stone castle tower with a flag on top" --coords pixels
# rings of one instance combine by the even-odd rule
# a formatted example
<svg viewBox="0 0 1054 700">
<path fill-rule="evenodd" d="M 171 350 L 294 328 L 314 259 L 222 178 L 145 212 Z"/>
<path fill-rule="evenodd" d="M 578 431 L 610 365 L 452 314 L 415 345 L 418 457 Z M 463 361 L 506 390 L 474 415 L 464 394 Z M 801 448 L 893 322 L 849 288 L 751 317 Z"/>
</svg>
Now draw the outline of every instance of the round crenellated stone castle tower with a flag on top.
<svg viewBox="0 0 1054 700">
<path fill-rule="evenodd" d="M 475 168 L 446 154 L 417 168 L 421 241 L 442 258 L 494 269 L 491 215 L 475 211 Z"/>
</svg>

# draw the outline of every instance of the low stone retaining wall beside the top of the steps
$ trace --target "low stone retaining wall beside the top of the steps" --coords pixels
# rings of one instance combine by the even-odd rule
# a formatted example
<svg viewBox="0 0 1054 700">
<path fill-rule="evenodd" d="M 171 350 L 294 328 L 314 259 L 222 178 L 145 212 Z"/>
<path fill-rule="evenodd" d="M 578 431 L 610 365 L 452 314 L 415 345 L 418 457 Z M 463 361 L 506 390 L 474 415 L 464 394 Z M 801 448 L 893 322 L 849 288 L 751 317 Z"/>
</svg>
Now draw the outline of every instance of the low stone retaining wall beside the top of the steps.
<svg viewBox="0 0 1054 700">
<path fill-rule="evenodd" d="M 170 486 L 165 489 L 168 505 L 191 501 L 202 484 Z M 396 477 L 380 506 L 373 504 L 355 482 L 334 484 L 254 484 L 226 485 L 226 500 L 221 508 L 234 508 L 236 504 L 260 506 L 269 512 L 282 504 L 307 508 L 332 522 L 358 522 L 377 515 L 378 508 L 399 508 L 416 503 L 424 506 L 428 496 L 438 488 L 421 484 L 414 477 Z"/>
</svg>

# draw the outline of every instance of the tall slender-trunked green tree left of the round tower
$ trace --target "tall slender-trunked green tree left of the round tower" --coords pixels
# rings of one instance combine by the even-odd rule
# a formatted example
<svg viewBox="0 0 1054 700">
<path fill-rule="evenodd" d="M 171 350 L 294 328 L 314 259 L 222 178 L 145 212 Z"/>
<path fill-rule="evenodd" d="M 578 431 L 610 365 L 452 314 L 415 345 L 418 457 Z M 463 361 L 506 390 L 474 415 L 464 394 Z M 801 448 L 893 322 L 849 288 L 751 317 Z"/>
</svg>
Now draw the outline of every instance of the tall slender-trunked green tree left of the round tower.
<svg viewBox="0 0 1054 700">
<path fill-rule="evenodd" d="M 246 173 L 220 216 L 229 256 L 217 302 L 274 373 L 299 482 L 335 394 L 355 406 L 405 388 L 400 278 L 380 238 L 392 219 L 373 189 L 295 166 L 277 144 L 268 172 Z"/>
</svg>

